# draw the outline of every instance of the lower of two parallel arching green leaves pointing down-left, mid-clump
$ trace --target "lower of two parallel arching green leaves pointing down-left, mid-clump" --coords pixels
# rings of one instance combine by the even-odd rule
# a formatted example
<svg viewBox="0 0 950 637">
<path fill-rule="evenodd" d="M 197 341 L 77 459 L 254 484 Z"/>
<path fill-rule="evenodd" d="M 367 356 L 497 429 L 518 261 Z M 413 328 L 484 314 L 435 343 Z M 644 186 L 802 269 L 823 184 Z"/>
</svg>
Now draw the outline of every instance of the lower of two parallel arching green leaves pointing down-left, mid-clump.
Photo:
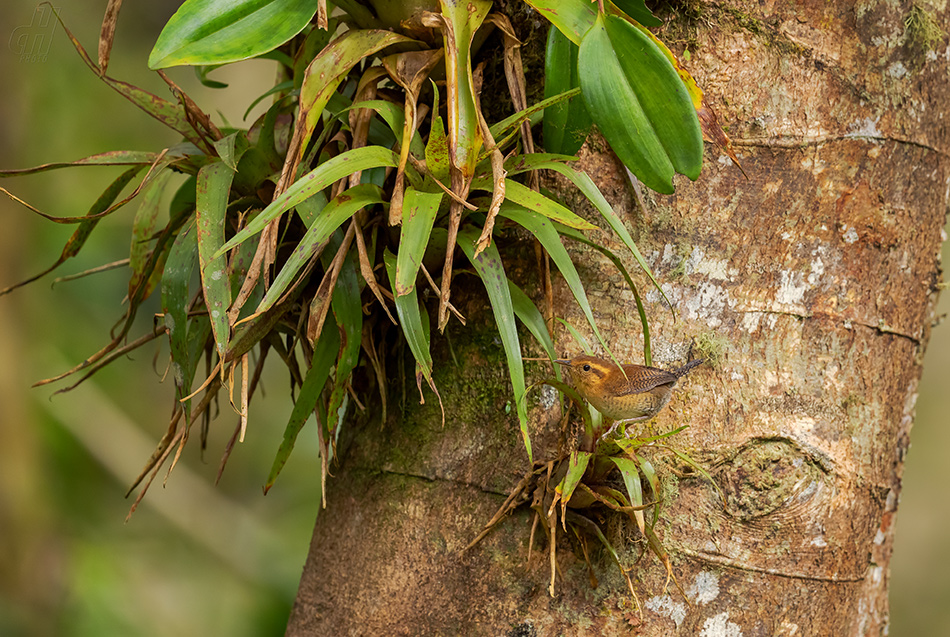
<svg viewBox="0 0 950 637">
<path fill-rule="evenodd" d="M 308 229 L 306 234 L 290 253 L 286 263 L 280 269 L 280 272 L 274 278 L 274 282 L 264 295 L 264 299 L 257 307 L 257 312 L 264 312 L 271 307 L 283 295 L 284 291 L 290 286 L 297 273 L 307 264 L 315 254 L 319 254 L 327 245 L 327 242 L 337 228 L 344 221 L 352 217 L 359 210 L 366 206 L 382 203 L 382 192 L 377 186 L 371 184 L 360 184 L 349 190 L 341 192 L 328 203 L 317 215 L 316 219 Z"/>
</svg>

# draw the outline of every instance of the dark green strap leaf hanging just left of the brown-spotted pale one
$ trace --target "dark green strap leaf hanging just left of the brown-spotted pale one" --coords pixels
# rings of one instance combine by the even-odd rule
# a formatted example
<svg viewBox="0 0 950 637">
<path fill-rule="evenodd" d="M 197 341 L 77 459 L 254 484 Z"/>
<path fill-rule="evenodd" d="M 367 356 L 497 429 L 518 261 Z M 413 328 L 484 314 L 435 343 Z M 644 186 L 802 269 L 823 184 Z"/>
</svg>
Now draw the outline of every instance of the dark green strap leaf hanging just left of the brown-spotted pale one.
<svg viewBox="0 0 950 637">
<path fill-rule="evenodd" d="M 198 233 L 195 219 L 182 228 L 172 244 L 162 273 L 162 312 L 172 355 L 172 376 L 176 397 L 180 400 L 191 393 L 194 368 L 189 365 L 188 304 L 191 302 L 188 286 L 198 262 Z M 191 417 L 191 401 L 183 405 L 186 421 Z"/>
</svg>

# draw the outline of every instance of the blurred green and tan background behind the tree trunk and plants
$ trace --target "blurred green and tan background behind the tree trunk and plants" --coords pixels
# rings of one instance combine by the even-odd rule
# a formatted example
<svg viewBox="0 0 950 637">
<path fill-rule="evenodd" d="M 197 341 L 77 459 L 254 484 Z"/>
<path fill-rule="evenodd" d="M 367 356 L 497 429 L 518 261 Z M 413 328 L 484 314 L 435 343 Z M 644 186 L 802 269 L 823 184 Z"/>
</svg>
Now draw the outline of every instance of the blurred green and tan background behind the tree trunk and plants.
<svg viewBox="0 0 950 637">
<path fill-rule="evenodd" d="M 95 57 L 105 3 L 61 4 L 67 25 Z M 145 69 L 178 4 L 123 7 L 110 76 L 169 97 Z M 97 80 L 62 29 L 44 26 L 43 17 L 30 0 L 0 5 L 7 43 L 0 55 L 0 167 L 177 142 Z M 23 59 L 24 52 L 37 59 Z M 225 91 L 201 86 L 190 70 L 170 75 L 217 122 L 243 127 L 264 108 L 244 120 L 243 109 L 270 86 L 274 72 L 270 62 L 213 72 L 230 84 Z M 0 185 L 41 210 L 81 215 L 120 173 L 70 169 Z M 125 271 L 50 284 L 55 276 L 127 257 L 134 210 L 135 204 L 101 223 L 56 274 L 0 298 L 0 635 L 283 634 L 319 497 L 316 441 L 306 436 L 312 428 L 277 486 L 261 494 L 289 415 L 285 374 L 272 367 L 265 377 L 266 395 L 251 408 L 247 441 L 235 449 L 218 487 L 212 483 L 220 453 L 236 423 L 227 405 L 212 423 L 205 457 L 189 445 L 167 486 L 160 474 L 128 524 L 124 491 L 170 412 L 171 383 L 158 382 L 167 349 L 146 346 L 134 361 L 111 365 L 65 396 L 52 396 L 62 384 L 30 388 L 107 342 L 103 326 L 123 311 Z M 52 263 L 74 229 L 6 198 L 0 219 L 0 287 Z M 942 311 L 948 307 L 945 298 Z M 155 311 L 153 299 L 139 313 L 135 334 L 148 329 Z M 943 327 L 927 352 L 907 459 L 891 564 L 891 635 L 950 634 L 950 507 L 941 479 L 950 446 L 948 376 L 950 333 Z"/>
</svg>

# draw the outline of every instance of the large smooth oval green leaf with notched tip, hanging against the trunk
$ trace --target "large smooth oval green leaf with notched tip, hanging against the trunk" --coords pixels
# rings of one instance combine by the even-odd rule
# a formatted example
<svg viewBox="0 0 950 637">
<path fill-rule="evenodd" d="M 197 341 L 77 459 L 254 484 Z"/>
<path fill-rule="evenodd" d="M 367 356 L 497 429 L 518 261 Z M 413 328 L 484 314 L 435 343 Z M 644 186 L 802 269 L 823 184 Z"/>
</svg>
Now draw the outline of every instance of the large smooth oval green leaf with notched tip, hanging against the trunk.
<svg viewBox="0 0 950 637">
<path fill-rule="evenodd" d="M 577 65 L 591 118 L 645 185 L 669 194 L 675 172 L 699 177 L 703 138 L 696 111 L 650 38 L 621 18 L 598 16 Z"/>
</svg>

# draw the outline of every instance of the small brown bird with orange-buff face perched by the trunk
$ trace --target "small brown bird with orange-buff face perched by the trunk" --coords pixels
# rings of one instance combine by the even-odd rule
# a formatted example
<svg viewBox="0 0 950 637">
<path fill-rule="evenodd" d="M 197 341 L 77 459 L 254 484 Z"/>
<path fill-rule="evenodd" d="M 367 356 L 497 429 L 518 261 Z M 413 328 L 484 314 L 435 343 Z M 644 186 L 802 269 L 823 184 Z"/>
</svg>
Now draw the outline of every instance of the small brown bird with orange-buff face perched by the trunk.
<svg viewBox="0 0 950 637">
<path fill-rule="evenodd" d="M 596 356 L 554 362 L 567 368 L 574 388 L 597 411 L 611 420 L 632 422 L 657 415 L 670 401 L 676 381 L 703 359 L 691 360 L 673 371 L 624 365 L 621 372 L 613 361 Z"/>
</svg>

